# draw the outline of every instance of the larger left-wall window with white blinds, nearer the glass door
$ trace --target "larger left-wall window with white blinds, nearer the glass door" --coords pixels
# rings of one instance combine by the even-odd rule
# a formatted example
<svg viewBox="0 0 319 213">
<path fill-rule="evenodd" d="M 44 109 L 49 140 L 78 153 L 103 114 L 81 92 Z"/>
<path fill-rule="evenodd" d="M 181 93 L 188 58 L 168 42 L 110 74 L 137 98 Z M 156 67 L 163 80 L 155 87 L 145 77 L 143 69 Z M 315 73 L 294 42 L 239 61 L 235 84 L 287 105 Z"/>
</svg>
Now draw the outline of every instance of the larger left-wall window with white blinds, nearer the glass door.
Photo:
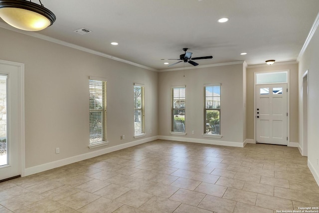
<svg viewBox="0 0 319 213">
<path fill-rule="evenodd" d="M 89 79 L 90 148 L 106 144 L 106 80 Z"/>
</svg>

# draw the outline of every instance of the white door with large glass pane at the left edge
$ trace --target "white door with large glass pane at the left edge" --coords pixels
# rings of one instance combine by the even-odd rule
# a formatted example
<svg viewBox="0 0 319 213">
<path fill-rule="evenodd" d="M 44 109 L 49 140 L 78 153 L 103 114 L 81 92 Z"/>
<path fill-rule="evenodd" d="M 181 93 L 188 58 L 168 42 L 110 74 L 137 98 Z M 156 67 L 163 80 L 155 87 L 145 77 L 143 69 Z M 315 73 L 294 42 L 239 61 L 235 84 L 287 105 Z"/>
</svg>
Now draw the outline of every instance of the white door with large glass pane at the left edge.
<svg viewBox="0 0 319 213">
<path fill-rule="evenodd" d="M 0 60 L 0 181 L 21 175 L 20 72 Z"/>
</svg>

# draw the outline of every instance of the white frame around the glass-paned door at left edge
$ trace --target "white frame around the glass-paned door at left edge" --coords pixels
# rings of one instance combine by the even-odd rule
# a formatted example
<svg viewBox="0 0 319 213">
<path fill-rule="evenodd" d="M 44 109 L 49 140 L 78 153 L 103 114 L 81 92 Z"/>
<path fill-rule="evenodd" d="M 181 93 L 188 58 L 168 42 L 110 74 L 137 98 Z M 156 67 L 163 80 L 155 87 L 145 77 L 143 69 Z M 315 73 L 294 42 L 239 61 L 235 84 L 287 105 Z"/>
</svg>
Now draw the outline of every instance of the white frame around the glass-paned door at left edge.
<svg viewBox="0 0 319 213">
<path fill-rule="evenodd" d="M 19 153 L 20 153 L 20 175 L 23 177 L 25 175 L 25 119 L 24 119 L 24 64 L 19 62 L 13 62 L 13 61 L 6 61 L 0 59 L 0 64 L 9 65 L 9 66 L 15 66 L 18 68 L 18 99 L 19 99 L 19 117 L 18 117 L 18 125 L 20 129 L 20 137 L 19 137 Z"/>
</svg>

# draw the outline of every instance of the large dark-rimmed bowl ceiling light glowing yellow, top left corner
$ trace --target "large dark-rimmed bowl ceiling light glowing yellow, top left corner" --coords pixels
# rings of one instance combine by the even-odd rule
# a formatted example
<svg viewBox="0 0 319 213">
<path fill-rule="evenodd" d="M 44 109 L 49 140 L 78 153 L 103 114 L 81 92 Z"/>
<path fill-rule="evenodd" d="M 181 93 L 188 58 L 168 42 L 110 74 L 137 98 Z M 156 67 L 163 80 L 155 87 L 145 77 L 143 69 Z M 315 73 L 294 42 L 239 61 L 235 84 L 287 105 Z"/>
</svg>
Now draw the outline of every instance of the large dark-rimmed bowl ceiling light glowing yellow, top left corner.
<svg viewBox="0 0 319 213">
<path fill-rule="evenodd" d="M 0 0 L 0 17 L 11 26 L 38 31 L 53 24 L 56 17 L 49 9 L 27 0 Z"/>
</svg>

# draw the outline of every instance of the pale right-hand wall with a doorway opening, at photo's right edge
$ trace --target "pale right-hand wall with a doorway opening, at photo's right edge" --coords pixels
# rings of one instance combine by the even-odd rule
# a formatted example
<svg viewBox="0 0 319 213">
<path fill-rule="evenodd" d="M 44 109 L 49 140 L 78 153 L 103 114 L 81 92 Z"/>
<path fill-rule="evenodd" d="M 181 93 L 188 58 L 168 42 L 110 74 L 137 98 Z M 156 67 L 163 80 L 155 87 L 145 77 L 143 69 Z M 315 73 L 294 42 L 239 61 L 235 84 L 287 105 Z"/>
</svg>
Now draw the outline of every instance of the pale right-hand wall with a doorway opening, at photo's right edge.
<svg viewBox="0 0 319 213">
<path fill-rule="evenodd" d="M 317 20 L 318 21 L 318 20 Z M 300 145 L 302 143 L 303 74 L 308 70 L 308 166 L 319 185 L 319 31 L 313 34 L 308 47 L 299 61 Z"/>
</svg>

